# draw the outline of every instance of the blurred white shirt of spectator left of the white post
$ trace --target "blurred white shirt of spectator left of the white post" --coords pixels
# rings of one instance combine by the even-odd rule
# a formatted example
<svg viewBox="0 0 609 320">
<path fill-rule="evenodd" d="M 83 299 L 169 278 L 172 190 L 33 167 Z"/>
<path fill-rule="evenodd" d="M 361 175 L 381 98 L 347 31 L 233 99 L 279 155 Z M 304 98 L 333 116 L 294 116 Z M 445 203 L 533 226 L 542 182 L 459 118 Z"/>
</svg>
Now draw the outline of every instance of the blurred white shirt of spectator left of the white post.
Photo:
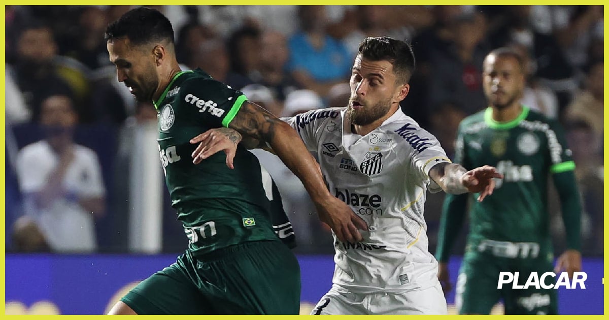
<svg viewBox="0 0 609 320">
<path fill-rule="evenodd" d="M 25 194 L 24 212 L 37 219 L 46 241 L 57 252 L 94 252 L 97 249 L 95 221 L 76 201 L 55 199 L 48 208 L 38 208 L 30 194 L 43 190 L 60 159 L 46 140 L 25 146 L 17 155 L 17 174 Z M 101 166 L 95 152 L 74 144 L 62 187 L 79 197 L 104 197 Z"/>
</svg>

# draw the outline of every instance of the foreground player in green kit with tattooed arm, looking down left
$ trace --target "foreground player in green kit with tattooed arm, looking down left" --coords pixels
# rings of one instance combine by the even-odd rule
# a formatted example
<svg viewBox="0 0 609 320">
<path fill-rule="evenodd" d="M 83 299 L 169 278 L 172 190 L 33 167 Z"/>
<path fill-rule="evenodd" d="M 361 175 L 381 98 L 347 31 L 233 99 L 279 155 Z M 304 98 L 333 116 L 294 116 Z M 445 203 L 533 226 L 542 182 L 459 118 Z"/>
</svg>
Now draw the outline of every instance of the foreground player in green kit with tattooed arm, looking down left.
<svg viewBox="0 0 609 320">
<path fill-rule="evenodd" d="M 138 101 L 153 101 L 157 108 L 167 188 L 189 239 L 176 263 L 139 283 L 110 313 L 298 314 L 300 268 L 280 241 L 289 231 L 273 223 L 287 218 L 273 209 L 276 188 L 269 174 L 242 148 L 234 154 L 234 167 L 222 155 L 195 165 L 189 160 L 195 149 L 190 138 L 230 127 L 266 141 L 343 241 L 361 240 L 357 227 L 366 229 L 365 222 L 329 193 L 317 163 L 288 124 L 203 71 L 180 70 L 174 31 L 162 13 L 130 10 L 108 26 L 106 40 L 119 82 Z"/>
</svg>

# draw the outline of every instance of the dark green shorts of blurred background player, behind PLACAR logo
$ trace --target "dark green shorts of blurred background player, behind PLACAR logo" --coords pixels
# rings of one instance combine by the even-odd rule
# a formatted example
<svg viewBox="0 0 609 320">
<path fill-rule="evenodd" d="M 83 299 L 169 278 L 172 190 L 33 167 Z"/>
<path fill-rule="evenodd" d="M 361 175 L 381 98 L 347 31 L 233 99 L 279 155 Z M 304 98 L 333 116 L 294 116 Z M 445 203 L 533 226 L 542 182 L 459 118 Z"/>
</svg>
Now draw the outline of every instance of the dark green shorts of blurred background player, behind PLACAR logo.
<svg viewBox="0 0 609 320">
<path fill-rule="evenodd" d="M 504 302 L 506 315 L 556 315 L 558 297 L 555 289 L 512 289 L 512 283 L 499 290 L 499 272 L 519 272 L 518 285 L 524 285 L 530 272 L 541 276 L 553 271 L 552 258 L 503 258 L 487 252 L 467 252 L 456 283 L 455 305 L 461 315 L 488 315 L 491 308 Z M 552 283 L 555 282 L 552 278 Z M 550 279 L 546 280 L 549 285 Z"/>
</svg>

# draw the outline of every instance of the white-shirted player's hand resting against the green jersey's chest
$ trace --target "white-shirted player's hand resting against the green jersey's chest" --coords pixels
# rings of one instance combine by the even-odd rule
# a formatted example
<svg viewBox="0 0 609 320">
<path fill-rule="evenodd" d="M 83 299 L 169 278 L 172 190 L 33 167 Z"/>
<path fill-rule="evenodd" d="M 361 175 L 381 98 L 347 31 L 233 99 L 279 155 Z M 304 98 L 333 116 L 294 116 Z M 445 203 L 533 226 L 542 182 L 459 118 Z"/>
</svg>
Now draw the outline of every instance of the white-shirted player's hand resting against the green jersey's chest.
<svg viewBox="0 0 609 320">
<path fill-rule="evenodd" d="M 227 155 L 228 168 L 234 169 L 233 159 L 237 152 L 237 144 L 241 141 L 241 134 L 228 128 L 209 129 L 190 140 L 191 144 L 199 143 L 192 152 L 192 163 L 198 165 L 203 159 L 216 152 L 224 151 Z"/>
</svg>

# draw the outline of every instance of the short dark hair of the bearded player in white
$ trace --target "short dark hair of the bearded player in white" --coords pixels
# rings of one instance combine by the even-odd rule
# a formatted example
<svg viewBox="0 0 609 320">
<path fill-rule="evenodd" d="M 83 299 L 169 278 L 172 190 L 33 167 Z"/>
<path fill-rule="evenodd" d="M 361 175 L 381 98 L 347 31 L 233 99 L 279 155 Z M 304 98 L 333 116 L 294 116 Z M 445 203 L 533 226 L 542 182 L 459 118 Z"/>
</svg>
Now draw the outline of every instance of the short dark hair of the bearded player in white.
<svg viewBox="0 0 609 320">
<path fill-rule="evenodd" d="M 357 49 L 362 58 L 373 61 L 387 60 L 393 65 L 397 80 L 407 84 L 415 71 L 415 54 L 412 46 L 390 37 L 368 37 Z"/>
</svg>

